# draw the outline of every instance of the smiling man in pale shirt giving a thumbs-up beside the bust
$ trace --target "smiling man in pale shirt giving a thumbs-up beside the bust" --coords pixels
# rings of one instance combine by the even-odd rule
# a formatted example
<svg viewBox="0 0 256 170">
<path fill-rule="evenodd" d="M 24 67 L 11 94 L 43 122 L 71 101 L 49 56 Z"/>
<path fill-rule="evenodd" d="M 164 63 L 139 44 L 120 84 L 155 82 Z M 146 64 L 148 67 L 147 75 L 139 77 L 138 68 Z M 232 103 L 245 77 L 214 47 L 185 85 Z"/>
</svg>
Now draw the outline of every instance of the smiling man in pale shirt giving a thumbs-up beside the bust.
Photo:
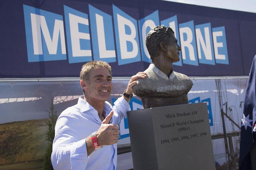
<svg viewBox="0 0 256 170">
<path fill-rule="evenodd" d="M 92 61 L 82 66 L 80 84 L 84 96 L 78 104 L 64 110 L 55 126 L 51 156 L 58 170 L 115 170 L 117 165 L 118 124 L 130 111 L 129 101 L 139 72 L 132 76 L 123 96 L 114 107 L 107 102 L 112 86 L 111 67 Z"/>
</svg>

